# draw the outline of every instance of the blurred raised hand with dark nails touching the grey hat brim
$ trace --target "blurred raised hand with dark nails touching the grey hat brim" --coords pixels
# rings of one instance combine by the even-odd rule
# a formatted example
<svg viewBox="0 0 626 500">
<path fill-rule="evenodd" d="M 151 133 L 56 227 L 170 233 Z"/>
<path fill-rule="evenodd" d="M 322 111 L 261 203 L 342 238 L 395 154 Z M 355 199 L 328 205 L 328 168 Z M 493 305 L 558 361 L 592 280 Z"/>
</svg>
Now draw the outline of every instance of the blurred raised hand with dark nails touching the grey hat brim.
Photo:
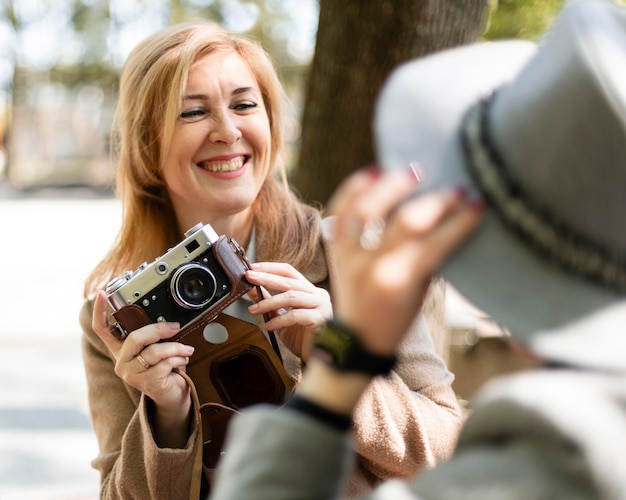
<svg viewBox="0 0 626 500">
<path fill-rule="evenodd" d="M 408 171 L 384 176 L 360 171 L 329 204 L 337 215 L 335 314 L 381 355 L 396 352 L 432 274 L 477 227 L 483 212 L 482 203 L 469 203 L 463 190 L 398 205 L 417 188 L 412 179 Z M 379 233 L 363 238 L 368 226 Z"/>
</svg>

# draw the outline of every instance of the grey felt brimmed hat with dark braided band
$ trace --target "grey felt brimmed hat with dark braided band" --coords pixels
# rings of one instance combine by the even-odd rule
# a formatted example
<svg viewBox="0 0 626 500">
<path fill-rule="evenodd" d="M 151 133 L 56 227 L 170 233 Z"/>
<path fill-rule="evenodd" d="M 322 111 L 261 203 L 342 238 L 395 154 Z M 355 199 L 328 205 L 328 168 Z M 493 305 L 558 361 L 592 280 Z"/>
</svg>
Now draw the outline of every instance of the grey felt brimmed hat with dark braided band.
<svg viewBox="0 0 626 500">
<path fill-rule="evenodd" d="M 539 354 L 626 370 L 626 9 L 574 0 L 539 44 L 407 63 L 374 127 L 384 168 L 421 165 L 418 193 L 488 201 L 445 278 Z"/>
</svg>

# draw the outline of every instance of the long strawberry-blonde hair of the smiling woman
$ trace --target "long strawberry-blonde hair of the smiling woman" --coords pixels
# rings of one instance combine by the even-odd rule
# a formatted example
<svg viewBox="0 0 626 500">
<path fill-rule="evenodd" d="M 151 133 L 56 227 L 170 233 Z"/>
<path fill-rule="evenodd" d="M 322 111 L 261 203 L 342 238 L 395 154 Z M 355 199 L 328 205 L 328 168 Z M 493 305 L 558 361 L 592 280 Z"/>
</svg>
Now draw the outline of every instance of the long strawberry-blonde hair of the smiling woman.
<svg viewBox="0 0 626 500">
<path fill-rule="evenodd" d="M 126 61 L 114 122 L 117 193 L 122 225 L 116 241 L 85 284 L 85 295 L 108 280 L 151 262 L 182 239 L 161 177 L 180 114 L 191 65 L 211 53 L 238 53 L 259 84 L 271 133 L 270 173 L 253 203 L 259 260 L 309 265 L 319 238 L 319 211 L 290 190 L 283 158 L 284 90 L 268 54 L 255 41 L 210 22 L 170 26 L 139 43 Z M 277 177 L 281 174 L 282 179 Z"/>
</svg>

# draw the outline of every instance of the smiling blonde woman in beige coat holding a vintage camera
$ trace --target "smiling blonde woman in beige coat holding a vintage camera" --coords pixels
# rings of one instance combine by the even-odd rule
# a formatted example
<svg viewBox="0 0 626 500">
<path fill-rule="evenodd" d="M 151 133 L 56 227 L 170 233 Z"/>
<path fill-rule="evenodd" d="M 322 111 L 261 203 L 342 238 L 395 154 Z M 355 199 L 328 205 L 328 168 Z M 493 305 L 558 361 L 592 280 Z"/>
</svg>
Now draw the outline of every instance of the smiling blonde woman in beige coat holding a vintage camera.
<svg viewBox="0 0 626 500">
<path fill-rule="evenodd" d="M 99 443 L 93 465 L 103 499 L 197 498 L 200 482 L 202 491 L 209 489 L 216 463 L 206 451 L 214 428 L 203 430 L 210 415 L 198 409 L 211 401 L 193 400 L 208 383 L 209 368 L 192 374 L 202 358 L 187 337 L 169 341 L 180 330 L 175 321 L 135 329 L 124 341 L 114 337 L 99 291 L 109 280 L 152 262 L 183 232 L 208 223 L 245 249 L 254 263 L 248 280 L 268 292 L 262 300 L 244 296 L 225 313 L 265 335 L 276 332 L 296 383 L 310 358 L 310 337 L 332 316 L 340 286 L 332 220 L 287 186 L 283 104 L 263 49 L 212 23 L 168 27 L 141 42 L 125 64 L 115 135 L 123 220 L 87 281 L 81 311 Z M 359 459 L 348 493 L 432 466 L 456 441 L 462 412 L 453 376 L 434 351 L 425 317 L 416 310 L 413 319 L 394 373 L 371 384 L 354 412 Z"/>
</svg>

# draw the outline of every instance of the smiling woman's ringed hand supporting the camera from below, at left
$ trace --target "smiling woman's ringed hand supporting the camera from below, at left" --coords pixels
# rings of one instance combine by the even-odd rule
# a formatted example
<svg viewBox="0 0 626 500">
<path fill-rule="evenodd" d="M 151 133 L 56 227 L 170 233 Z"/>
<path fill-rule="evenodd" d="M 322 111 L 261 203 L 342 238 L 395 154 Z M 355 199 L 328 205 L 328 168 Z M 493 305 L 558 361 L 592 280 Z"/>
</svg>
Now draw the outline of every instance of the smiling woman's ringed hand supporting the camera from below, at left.
<svg viewBox="0 0 626 500">
<path fill-rule="evenodd" d="M 92 327 L 115 358 L 115 373 L 154 402 L 157 444 L 165 448 L 184 447 L 190 418 L 190 389 L 175 370 L 185 369 L 193 347 L 180 342 L 160 342 L 178 333 L 178 323 L 146 325 L 122 341 L 109 331 L 107 317 L 106 296 L 99 292 Z"/>
</svg>

